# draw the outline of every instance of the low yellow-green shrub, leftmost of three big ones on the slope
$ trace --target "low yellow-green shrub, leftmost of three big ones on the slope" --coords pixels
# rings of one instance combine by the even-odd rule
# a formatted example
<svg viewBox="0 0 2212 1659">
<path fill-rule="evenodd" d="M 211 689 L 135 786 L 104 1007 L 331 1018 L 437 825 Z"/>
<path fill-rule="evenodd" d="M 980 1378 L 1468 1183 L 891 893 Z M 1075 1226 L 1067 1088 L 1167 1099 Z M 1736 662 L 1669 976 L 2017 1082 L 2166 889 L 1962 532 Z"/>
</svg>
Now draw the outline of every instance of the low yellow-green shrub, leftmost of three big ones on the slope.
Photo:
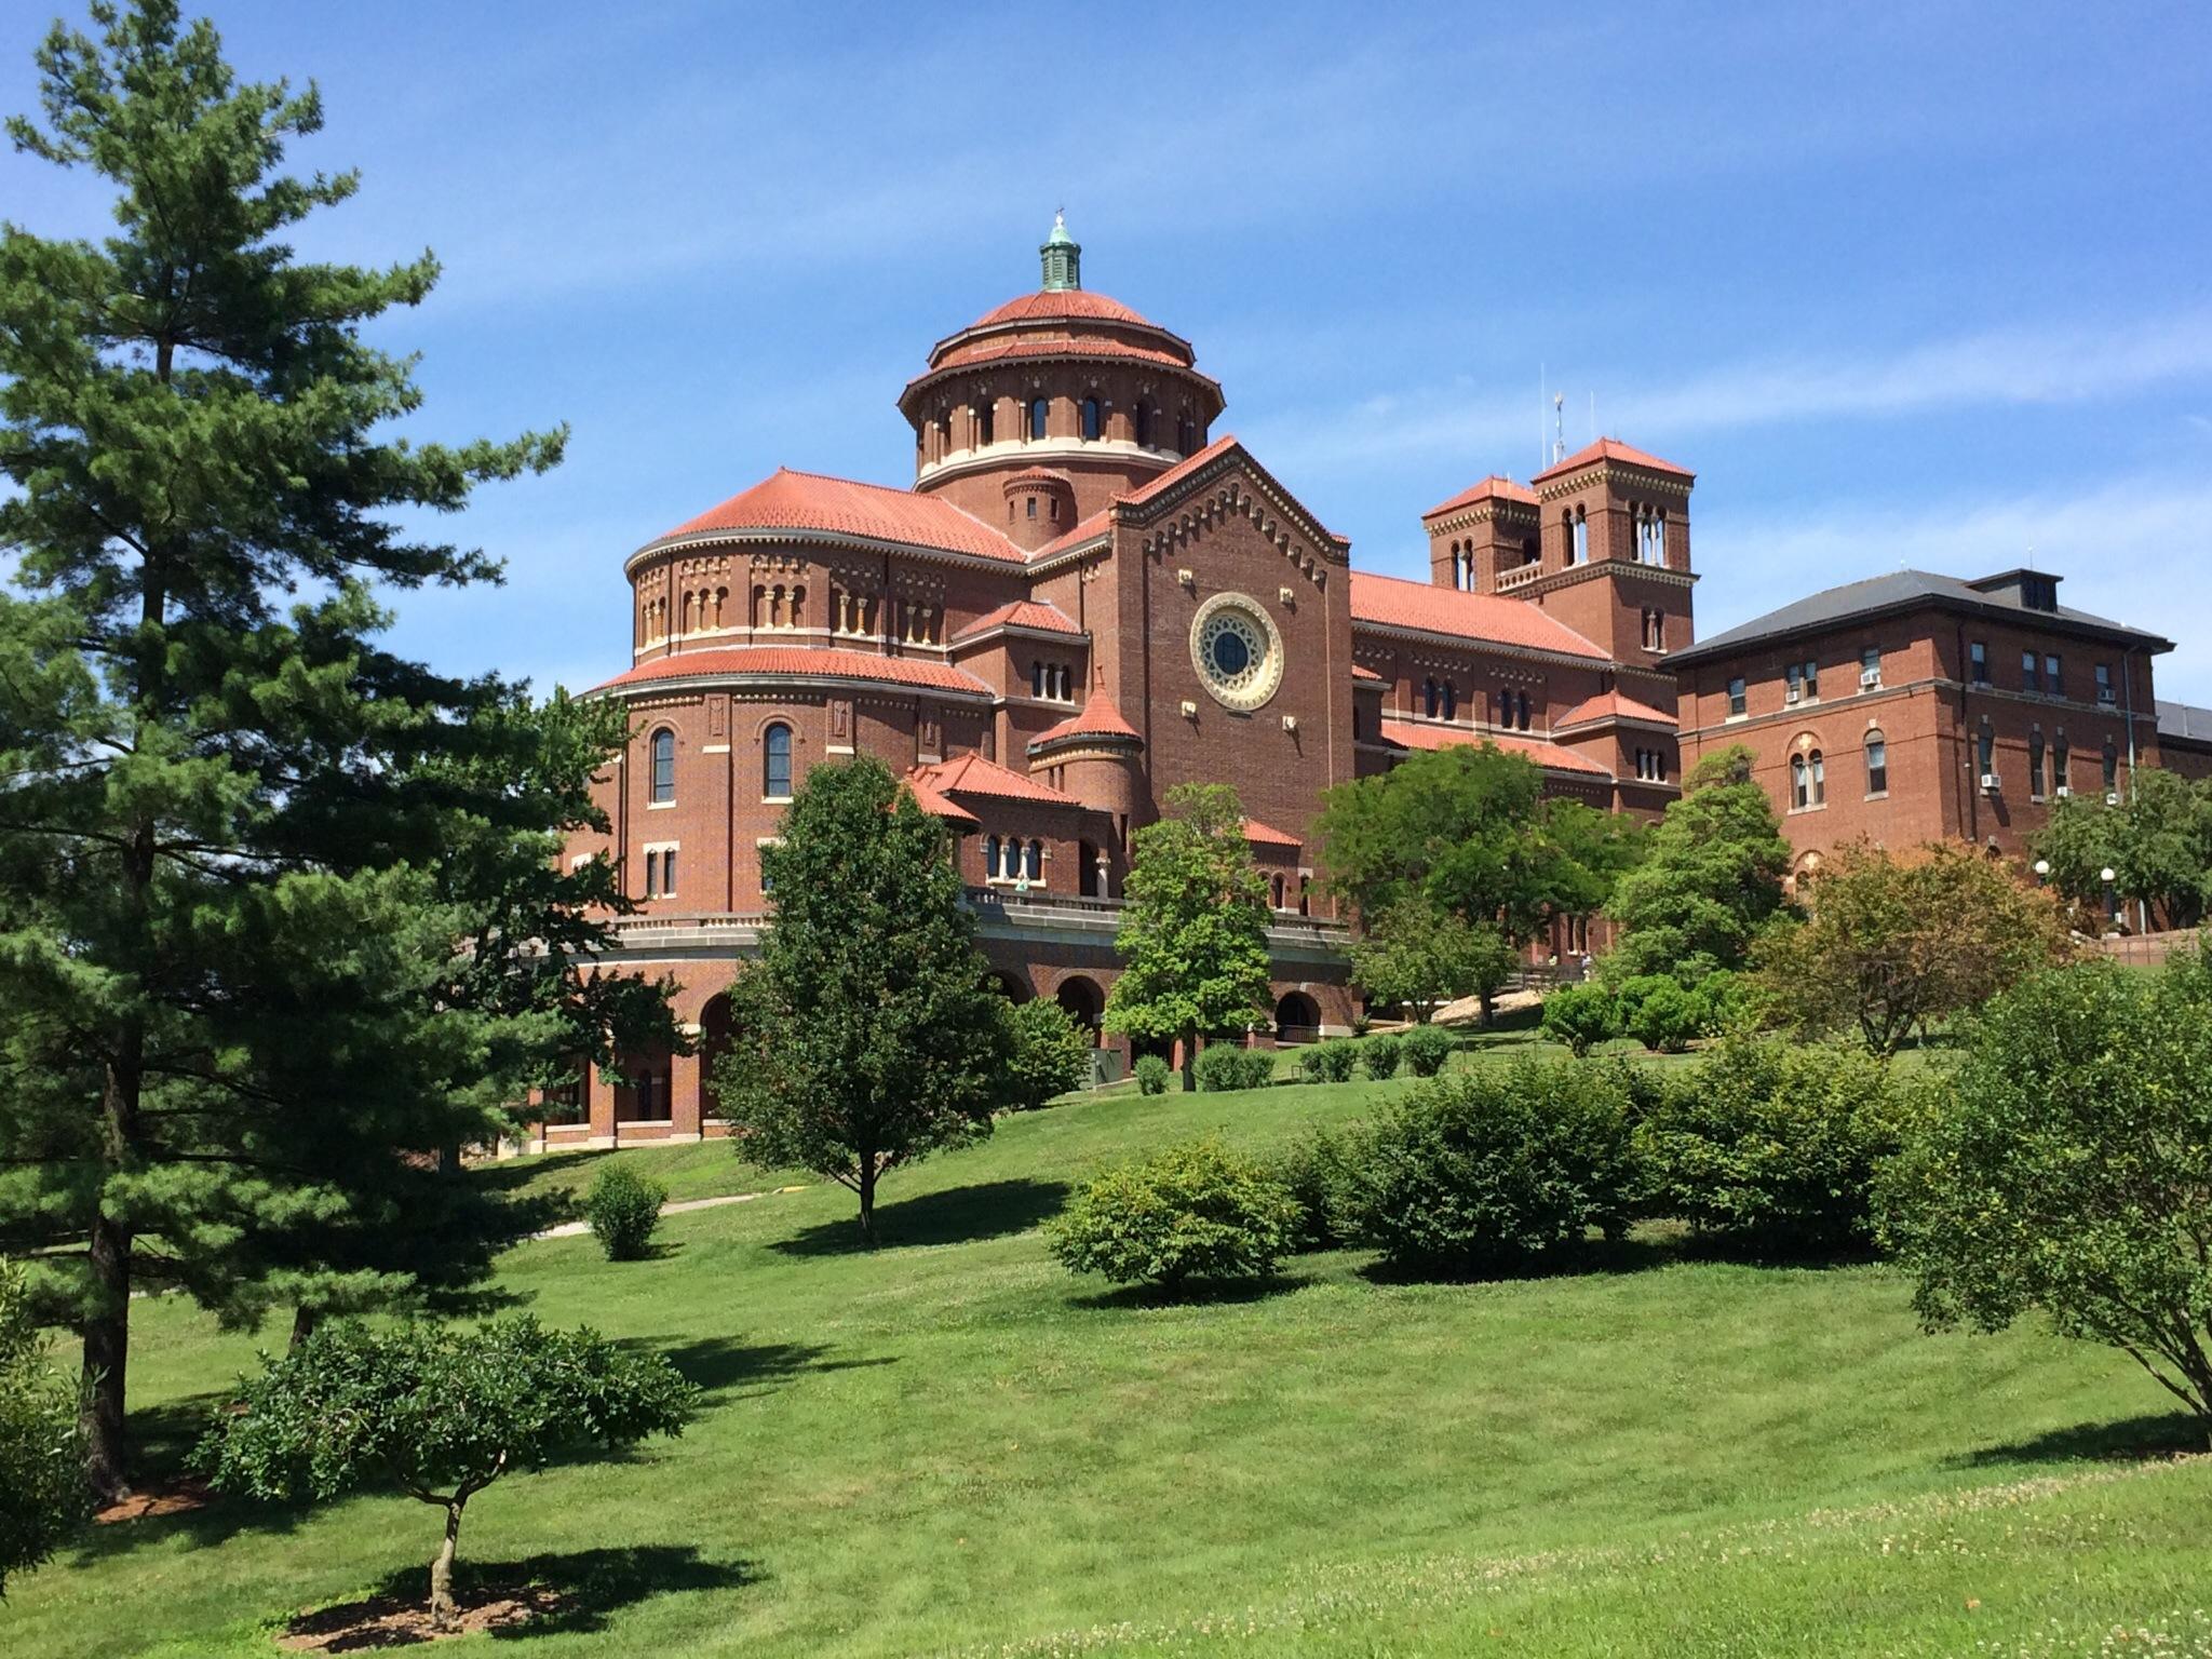
<svg viewBox="0 0 2212 1659">
<path fill-rule="evenodd" d="M 1281 1181 L 1219 1141 L 1190 1141 L 1084 1183 L 1046 1239 L 1068 1272 L 1175 1285 L 1272 1274 L 1298 1221 Z"/>
</svg>

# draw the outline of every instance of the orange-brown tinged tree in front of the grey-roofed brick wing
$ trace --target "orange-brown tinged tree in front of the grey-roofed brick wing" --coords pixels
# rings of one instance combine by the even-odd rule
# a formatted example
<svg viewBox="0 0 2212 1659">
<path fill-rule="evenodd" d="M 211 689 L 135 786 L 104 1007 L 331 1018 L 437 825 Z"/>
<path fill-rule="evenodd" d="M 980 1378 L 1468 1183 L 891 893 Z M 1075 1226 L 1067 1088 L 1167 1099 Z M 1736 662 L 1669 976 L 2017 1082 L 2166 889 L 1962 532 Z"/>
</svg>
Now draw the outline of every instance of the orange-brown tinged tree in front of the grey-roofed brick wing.
<svg viewBox="0 0 2212 1659">
<path fill-rule="evenodd" d="M 2073 953 L 2048 889 L 1949 843 L 1840 847 L 1807 902 L 1812 920 L 1761 951 L 1774 1006 L 1814 1031 L 1858 1026 L 1876 1053 Z"/>
</svg>

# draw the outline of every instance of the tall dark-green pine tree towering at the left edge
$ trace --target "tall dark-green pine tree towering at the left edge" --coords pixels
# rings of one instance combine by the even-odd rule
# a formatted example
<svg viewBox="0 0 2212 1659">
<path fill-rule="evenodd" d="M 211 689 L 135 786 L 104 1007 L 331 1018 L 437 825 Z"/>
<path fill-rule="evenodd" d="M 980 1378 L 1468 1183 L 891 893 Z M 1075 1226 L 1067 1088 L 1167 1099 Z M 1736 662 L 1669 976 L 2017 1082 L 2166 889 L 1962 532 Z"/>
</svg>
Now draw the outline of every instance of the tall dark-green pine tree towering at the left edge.
<svg viewBox="0 0 2212 1659">
<path fill-rule="evenodd" d="M 546 869 L 613 717 L 405 661 L 372 597 L 495 580 L 392 515 L 564 434 L 392 436 L 420 392 L 361 327 L 438 268 L 285 246 L 356 188 L 281 173 L 314 88 L 239 84 L 170 0 L 91 11 L 9 133 L 111 181 L 117 230 L 0 230 L 0 1248 L 84 1336 L 113 1495 L 135 1287 L 239 1323 L 409 1292 L 438 1245 L 387 1223 L 436 1155 L 635 987 L 568 956 L 606 872 Z"/>
</svg>

